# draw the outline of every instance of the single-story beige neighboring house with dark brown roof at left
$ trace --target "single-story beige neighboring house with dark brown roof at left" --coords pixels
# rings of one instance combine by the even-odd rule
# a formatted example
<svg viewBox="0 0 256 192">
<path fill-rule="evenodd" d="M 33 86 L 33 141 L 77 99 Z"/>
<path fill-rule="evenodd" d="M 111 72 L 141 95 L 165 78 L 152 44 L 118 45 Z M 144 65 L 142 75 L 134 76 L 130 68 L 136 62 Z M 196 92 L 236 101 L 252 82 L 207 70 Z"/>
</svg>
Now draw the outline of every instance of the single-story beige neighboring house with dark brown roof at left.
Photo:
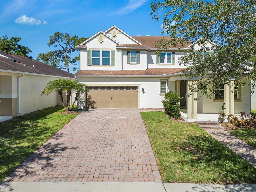
<svg viewBox="0 0 256 192">
<path fill-rule="evenodd" d="M 41 95 L 46 83 L 59 78 L 74 79 L 74 76 L 34 59 L 1 51 L 1 121 L 19 114 L 62 105 L 56 92 L 48 96 Z M 63 97 L 65 99 L 65 94 Z"/>
</svg>

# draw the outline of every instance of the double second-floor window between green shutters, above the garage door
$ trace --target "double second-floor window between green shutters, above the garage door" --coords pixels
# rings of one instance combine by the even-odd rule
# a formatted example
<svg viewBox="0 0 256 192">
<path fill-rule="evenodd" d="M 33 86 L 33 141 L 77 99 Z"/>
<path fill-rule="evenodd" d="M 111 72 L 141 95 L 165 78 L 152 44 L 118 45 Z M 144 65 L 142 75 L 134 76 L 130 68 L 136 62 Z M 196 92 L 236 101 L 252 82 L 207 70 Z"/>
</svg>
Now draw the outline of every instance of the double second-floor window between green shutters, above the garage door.
<svg viewBox="0 0 256 192">
<path fill-rule="evenodd" d="M 110 50 L 92 50 L 92 65 L 110 65 Z"/>
</svg>

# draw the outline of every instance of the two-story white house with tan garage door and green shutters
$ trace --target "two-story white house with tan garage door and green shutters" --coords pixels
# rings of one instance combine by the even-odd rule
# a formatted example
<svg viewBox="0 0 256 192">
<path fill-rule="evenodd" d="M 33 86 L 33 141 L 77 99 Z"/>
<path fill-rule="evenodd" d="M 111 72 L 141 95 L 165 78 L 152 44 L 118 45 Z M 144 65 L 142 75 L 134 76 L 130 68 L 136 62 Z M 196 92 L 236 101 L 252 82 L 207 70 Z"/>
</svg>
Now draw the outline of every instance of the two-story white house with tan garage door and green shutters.
<svg viewBox="0 0 256 192">
<path fill-rule="evenodd" d="M 173 91 L 181 97 L 187 94 L 188 85 L 199 78 L 188 81 L 184 76 L 180 77 L 185 66 L 179 65 L 179 58 L 191 45 L 200 49 L 198 41 L 170 47 L 157 56 L 155 42 L 162 38 L 130 36 L 113 26 L 77 46 L 80 70 L 74 76 L 89 86 L 88 95 L 96 102 L 95 107 L 163 108 L 166 92 Z M 213 46 L 212 42 L 207 42 L 207 47 Z M 202 95 L 198 102 L 194 98 L 201 93 L 183 98 L 180 101 L 181 115 L 187 121 L 217 121 L 218 113 L 250 112 L 250 99 L 242 99 L 243 94 L 250 95 L 250 86 L 239 89 L 239 94 L 234 95 L 231 88 L 225 86 L 221 95 L 213 95 L 212 99 Z M 224 101 L 225 111 L 222 110 Z M 78 107 L 83 108 L 85 102 L 86 99 L 81 97 Z"/>
</svg>

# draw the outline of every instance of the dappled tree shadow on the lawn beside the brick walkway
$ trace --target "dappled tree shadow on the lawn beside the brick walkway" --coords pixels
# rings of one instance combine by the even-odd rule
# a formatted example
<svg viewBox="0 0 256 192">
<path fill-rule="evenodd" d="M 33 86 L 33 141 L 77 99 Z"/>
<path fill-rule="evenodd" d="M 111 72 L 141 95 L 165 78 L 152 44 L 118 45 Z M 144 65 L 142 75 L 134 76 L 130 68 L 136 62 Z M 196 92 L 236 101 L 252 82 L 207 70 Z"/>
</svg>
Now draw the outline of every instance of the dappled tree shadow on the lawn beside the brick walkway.
<svg viewBox="0 0 256 192">
<path fill-rule="evenodd" d="M 170 148 L 184 153 L 184 158 L 179 160 L 178 164 L 189 165 L 192 170 L 200 170 L 204 165 L 209 172 L 217 173 L 215 179 L 212 179 L 213 182 L 256 182 L 256 169 L 211 136 L 187 135 L 183 142 L 172 141 Z"/>
</svg>

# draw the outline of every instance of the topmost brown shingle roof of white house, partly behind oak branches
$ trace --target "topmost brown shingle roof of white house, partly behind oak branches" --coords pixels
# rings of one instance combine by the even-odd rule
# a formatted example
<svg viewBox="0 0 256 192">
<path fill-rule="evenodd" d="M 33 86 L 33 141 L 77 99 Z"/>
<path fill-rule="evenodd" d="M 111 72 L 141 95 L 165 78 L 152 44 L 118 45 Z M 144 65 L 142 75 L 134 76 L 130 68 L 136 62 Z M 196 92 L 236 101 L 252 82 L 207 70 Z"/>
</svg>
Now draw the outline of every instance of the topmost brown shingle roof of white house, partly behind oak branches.
<svg viewBox="0 0 256 192">
<path fill-rule="evenodd" d="M 134 39 L 136 39 L 137 41 L 139 41 L 141 44 L 146 45 L 148 47 L 151 47 L 152 49 L 155 48 L 155 43 L 157 41 L 160 41 L 161 39 L 168 39 L 171 40 L 172 38 L 170 38 L 170 36 L 132 36 Z M 168 48 L 186 48 L 187 46 L 189 46 L 191 43 L 187 43 L 185 45 L 180 45 L 179 43 L 175 46 L 170 46 Z"/>
</svg>

